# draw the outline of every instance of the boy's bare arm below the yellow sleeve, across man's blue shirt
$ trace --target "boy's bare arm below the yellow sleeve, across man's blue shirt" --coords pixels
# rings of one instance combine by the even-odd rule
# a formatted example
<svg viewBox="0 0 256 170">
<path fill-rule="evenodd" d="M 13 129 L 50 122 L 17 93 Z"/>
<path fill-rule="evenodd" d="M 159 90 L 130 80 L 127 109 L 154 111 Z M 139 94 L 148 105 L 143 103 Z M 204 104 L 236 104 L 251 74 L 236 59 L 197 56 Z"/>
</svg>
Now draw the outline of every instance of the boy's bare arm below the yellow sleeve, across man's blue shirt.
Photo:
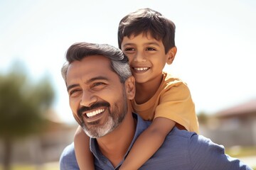
<svg viewBox="0 0 256 170">
<path fill-rule="evenodd" d="M 155 118 L 137 138 L 120 170 L 139 169 L 161 147 L 176 123 L 168 118 Z"/>
</svg>

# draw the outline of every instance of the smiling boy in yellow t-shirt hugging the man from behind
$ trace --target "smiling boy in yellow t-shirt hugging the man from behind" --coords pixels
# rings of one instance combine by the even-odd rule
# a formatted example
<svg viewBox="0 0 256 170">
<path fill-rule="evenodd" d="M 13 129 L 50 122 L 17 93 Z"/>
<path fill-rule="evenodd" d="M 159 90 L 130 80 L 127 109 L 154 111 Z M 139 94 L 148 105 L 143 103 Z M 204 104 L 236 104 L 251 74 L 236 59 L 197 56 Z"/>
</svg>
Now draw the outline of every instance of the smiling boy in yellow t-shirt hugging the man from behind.
<svg viewBox="0 0 256 170">
<path fill-rule="evenodd" d="M 188 86 L 162 71 L 166 63 L 174 61 L 174 36 L 174 23 L 149 8 L 129 13 L 119 23 L 119 48 L 129 58 L 136 81 L 132 108 L 144 120 L 153 121 L 134 143 L 120 167 L 122 170 L 139 169 L 159 149 L 174 126 L 198 132 Z M 80 169 L 93 169 L 88 139 L 82 130 L 76 132 L 75 154 Z"/>
</svg>

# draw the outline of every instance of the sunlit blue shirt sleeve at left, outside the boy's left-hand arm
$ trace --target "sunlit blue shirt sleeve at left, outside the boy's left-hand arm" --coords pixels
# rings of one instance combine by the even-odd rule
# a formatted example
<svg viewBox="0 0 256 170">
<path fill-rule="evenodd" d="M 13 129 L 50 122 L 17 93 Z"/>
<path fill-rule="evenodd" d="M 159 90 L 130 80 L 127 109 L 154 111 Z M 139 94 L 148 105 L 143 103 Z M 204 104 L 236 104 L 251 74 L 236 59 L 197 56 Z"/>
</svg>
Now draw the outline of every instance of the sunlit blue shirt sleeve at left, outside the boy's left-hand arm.
<svg viewBox="0 0 256 170">
<path fill-rule="evenodd" d="M 79 170 L 78 163 L 75 159 L 74 144 L 70 144 L 63 150 L 60 155 L 60 170 Z"/>
</svg>

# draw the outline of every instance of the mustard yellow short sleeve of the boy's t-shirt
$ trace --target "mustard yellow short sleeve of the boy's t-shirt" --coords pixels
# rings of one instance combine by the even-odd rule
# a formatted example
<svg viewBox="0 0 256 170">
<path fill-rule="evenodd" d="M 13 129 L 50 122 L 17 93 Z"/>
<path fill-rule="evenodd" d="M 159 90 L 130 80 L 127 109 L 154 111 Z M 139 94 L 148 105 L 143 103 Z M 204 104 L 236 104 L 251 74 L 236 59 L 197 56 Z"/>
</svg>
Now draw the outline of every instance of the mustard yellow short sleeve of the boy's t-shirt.
<svg viewBox="0 0 256 170">
<path fill-rule="evenodd" d="M 186 130 L 198 133 L 195 105 L 188 86 L 183 81 L 174 81 L 160 95 L 154 118 L 169 118 Z"/>
</svg>

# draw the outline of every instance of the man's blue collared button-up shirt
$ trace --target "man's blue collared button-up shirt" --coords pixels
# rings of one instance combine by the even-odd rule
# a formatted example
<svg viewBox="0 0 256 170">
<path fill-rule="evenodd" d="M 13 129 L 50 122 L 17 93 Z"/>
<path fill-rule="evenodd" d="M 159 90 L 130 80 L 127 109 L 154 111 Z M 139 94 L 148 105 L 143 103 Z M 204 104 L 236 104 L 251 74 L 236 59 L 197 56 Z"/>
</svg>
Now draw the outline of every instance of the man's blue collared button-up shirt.
<svg viewBox="0 0 256 170">
<path fill-rule="evenodd" d="M 151 123 L 142 120 L 137 114 L 133 115 L 134 118 L 137 119 L 137 128 L 127 154 L 139 134 L 149 127 Z M 96 139 L 92 138 L 90 140 L 90 149 L 95 155 L 95 169 L 119 169 L 119 166 L 124 162 L 123 159 L 122 162 L 114 168 L 107 157 L 102 155 L 100 149 L 98 149 Z M 124 158 L 127 157 L 127 154 L 125 154 Z M 63 150 L 60 156 L 60 170 L 76 169 L 79 169 L 79 167 L 75 159 L 75 149 L 72 143 Z M 169 135 L 166 136 L 159 150 L 140 169 L 235 170 L 250 169 L 250 167 L 240 162 L 239 159 L 229 157 L 225 154 L 223 146 L 213 143 L 208 138 L 197 135 L 194 132 L 174 128 Z"/>
</svg>

